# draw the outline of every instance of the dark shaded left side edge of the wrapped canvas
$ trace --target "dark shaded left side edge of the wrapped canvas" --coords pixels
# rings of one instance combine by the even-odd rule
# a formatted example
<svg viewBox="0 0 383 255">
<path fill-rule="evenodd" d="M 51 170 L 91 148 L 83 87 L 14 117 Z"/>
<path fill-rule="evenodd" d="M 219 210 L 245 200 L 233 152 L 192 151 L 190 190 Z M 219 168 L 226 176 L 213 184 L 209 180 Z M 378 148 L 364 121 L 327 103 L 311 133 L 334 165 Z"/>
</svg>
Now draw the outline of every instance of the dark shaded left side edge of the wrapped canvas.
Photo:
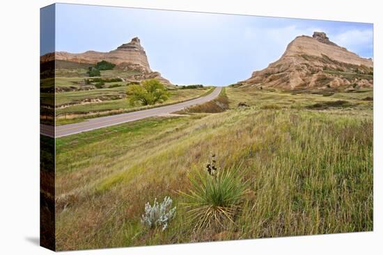
<svg viewBox="0 0 383 255">
<path fill-rule="evenodd" d="M 40 245 L 56 249 L 55 242 L 55 5 L 40 9 L 40 56 L 52 54 L 52 60 L 40 60 Z"/>
</svg>

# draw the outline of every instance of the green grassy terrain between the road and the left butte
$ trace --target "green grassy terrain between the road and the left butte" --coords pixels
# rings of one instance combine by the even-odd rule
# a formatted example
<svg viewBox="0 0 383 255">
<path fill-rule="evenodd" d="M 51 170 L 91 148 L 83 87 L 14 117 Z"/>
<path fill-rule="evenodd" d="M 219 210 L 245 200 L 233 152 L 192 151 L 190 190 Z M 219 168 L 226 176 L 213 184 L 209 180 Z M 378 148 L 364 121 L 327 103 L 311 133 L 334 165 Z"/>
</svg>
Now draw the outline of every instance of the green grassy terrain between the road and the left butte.
<svg viewBox="0 0 383 255">
<path fill-rule="evenodd" d="M 89 77 L 90 68 L 100 72 L 100 76 Z M 56 78 L 42 78 L 41 97 L 42 105 L 47 109 L 55 106 L 56 124 L 70 124 L 81 122 L 92 117 L 127 113 L 134 110 L 143 110 L 166 104 L 175 104 L 201 97 L 212 92 L 212 87 L 200 85 L 178 87 L 164 85 L 165 97 L 150 99 L 150 104 L 130 104 L 131 95 L 127 94 L 130 87 L 139 85 L 135 76 L 140 76 L 136 70 L 118 69 L 114 64 L 100 61 L 95 65 L 79 64 L 68 61 L 56 61 Z M 54 86 L 56 82 L 56 87 Z M 56 91 L 56 100 L 52 101 L 52 92 Z M 153 98 L 154 99 L 154 98 Z M 52 113 L 53 114 L 53 113 Z"/>
</svg>

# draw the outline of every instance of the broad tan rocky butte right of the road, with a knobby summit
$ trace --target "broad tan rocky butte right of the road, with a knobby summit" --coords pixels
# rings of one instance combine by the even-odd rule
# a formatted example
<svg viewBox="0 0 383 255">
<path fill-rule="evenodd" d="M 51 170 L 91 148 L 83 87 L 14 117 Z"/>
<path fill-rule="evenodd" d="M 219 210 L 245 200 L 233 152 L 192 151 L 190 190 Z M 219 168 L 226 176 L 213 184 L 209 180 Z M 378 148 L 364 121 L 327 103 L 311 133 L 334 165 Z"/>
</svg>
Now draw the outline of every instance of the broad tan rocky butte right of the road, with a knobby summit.
<svg viewBox="0 0 383 255">
<path fill-rule="evenodd" d="M 373 60 L 331 42 L 325 33 L 292 40 L 279 60 L 235 86 L 357 89 L 373 88 Z"/>
</svg>

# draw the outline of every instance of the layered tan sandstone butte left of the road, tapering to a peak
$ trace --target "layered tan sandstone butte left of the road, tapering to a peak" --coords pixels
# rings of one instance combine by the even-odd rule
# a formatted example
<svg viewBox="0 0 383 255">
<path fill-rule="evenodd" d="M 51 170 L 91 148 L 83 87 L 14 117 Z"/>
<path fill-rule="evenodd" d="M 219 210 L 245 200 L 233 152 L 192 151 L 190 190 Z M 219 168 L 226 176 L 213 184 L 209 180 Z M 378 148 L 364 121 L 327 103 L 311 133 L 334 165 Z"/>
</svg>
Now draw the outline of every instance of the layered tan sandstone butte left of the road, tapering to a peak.
<svg viewBox="0 0 383 255">
<path fill-rule="evenodd" d="M 86 51 L 84 53 L 73 54 L 66 51 L 56 51 L 40 57 L 40 63 L 53 60 L 64 60 L 75 63 L 95 64 L 101 60 L 114 63 L 116 68 L 134 69 L 143 74 L 143 79 L 159 79 L 166 84 L 170 82 L 164 79 L 159 72 L 150 69 L 148 57 L 141 46 L 139 38 L 133 38 L 130 42 L 120 45 L 117 49 L 109 52 Z"/>
</svg>

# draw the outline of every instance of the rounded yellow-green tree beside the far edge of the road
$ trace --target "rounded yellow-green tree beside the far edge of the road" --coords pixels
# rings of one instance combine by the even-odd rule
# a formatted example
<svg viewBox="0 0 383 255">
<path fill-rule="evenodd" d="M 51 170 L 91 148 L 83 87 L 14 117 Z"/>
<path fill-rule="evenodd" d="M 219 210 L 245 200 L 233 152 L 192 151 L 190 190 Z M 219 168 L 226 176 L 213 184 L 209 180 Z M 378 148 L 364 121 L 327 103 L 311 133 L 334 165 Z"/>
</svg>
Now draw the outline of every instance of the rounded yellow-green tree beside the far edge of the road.
<svg viewBox="0 0 383 255">
<path fill-rule="evenodd" d="M 147 106 L 166 101 L 169 98 L 169 92 L 157 79 L 142 81 L 140 85 L 130 85 L 127 94 L 130 95 L 130 104 L 132 105 L 138 102 Z"/>
</svg>

